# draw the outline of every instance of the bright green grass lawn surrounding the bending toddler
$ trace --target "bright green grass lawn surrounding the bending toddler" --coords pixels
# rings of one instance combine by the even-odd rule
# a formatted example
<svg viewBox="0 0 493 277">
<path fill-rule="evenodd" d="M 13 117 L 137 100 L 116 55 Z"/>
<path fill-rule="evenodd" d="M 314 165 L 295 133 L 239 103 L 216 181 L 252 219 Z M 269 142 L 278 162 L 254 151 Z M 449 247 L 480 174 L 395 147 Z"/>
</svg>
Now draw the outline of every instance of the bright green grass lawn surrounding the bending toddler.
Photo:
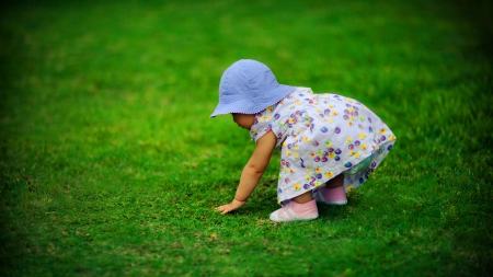
<svg viewBox="0 0 493 277">
<path fill-rule="evenodd" d="M 254 2 L 2 4 L 0 275 L 491 275 L 491 4 Z M 392 128 L 347 206 L 270 222 L 276 153 L 214 210 L 254 147 L 208 118 L 240 58 Z"/>
</svg>

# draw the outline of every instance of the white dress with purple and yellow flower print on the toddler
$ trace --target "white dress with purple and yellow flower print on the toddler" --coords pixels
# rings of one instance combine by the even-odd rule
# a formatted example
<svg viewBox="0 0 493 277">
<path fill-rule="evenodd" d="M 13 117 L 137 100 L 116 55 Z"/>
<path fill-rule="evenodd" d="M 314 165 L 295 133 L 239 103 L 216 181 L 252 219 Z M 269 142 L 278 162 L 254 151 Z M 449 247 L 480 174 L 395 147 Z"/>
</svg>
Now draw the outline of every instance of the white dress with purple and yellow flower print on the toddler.
<svg viewBox="0 0 493 277">
<path fill-rule="evenodd" d="M 337 94 L 297 88 L 255 115 L 256 142 L 274 131 L 282 151 L 277 196 L 280 204 L 344 173 L 347 191 L 362 185 L 395 142 L 389 127 L 365 105 Z"/>
</svg>

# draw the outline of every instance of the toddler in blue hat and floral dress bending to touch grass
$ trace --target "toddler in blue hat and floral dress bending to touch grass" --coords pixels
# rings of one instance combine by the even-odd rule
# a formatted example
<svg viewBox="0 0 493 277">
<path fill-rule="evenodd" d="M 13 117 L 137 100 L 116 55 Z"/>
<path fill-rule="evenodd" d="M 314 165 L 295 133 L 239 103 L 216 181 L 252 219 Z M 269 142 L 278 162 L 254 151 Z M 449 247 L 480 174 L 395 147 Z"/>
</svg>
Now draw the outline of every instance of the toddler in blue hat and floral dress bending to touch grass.
<svg viewBox="0 0 493 277">
<path fill-rule="evenodd" d="M 278 84 L 268 67 L 249 59 L 222 73 L 219 104 L 210 117 L 222 114 L 232 114 L 256 142 L 234 199 L 217 207 L 222 213 L 246 201 L 274 148 L 282 152 L 282 208 L 271 220 L 284 222 L 318 218 L 317 203 L 345 205 L 345 193 L 363 184 L 395 142 L 389 127 L 362 103 Z"/>
</svg>

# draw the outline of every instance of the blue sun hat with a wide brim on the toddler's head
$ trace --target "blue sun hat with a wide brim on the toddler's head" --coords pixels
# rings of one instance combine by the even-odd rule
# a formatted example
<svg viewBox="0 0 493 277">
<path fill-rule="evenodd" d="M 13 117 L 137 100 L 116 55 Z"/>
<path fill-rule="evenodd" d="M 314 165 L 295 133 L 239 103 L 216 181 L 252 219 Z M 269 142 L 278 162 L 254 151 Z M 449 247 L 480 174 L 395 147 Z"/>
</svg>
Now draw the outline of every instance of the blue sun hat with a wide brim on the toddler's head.
<svg viewBox="0 0 493 277">
<path fill-rule="evenodd" d="M 256 114 L 279 102 L 296 86 L 277 83 L 264 64 L 241 59 L 225 70 L 219 83 L 219 104 L 210 117 L 225 114 Z"/>
</svg>

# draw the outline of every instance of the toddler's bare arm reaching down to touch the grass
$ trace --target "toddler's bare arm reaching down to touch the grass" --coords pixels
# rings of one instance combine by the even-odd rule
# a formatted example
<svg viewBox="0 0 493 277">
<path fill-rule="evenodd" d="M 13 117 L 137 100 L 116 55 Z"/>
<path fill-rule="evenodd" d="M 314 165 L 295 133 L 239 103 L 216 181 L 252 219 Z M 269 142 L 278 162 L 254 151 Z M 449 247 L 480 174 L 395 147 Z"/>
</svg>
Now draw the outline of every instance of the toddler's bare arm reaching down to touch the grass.
<svg viewBox="0 0 493 277">
<path fill-rule="evenodd" d="M 230 204 L 217 207 L 221 213 L 240 208 L 250 195 L 252 195 L 265 169 L 267 169 L 276 141 L 277 138 L 273 131 L 265 134 L 256 141 L 255 150 L 241 173 L 240 184 L 238 185 L 234 199 Z"/>
</svg>

